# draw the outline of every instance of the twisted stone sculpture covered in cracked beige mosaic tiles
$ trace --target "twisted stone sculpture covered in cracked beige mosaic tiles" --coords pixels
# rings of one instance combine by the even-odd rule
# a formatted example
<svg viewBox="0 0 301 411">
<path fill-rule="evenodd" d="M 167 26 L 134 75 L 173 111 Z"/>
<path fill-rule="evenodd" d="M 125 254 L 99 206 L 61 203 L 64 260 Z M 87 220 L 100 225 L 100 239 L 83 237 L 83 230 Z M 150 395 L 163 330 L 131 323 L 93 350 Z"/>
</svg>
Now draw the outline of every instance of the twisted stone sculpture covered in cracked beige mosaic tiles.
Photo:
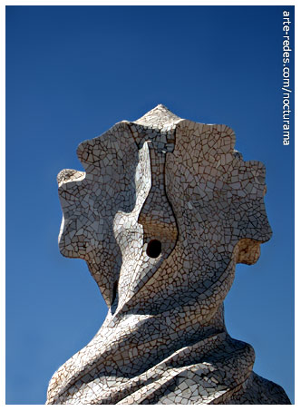
<svg viewBox="0 0 301 411">
<path fill-rule="evenodd" d="M 85 259 L 109 312 L 47 404 L 290 404 L 224 324 L 236 264 L 271 237 L 265 167 L 234 143 L 160 104 L 79 145 L 85 171 L 58 175 L 59 247 Z"/>
</svg>

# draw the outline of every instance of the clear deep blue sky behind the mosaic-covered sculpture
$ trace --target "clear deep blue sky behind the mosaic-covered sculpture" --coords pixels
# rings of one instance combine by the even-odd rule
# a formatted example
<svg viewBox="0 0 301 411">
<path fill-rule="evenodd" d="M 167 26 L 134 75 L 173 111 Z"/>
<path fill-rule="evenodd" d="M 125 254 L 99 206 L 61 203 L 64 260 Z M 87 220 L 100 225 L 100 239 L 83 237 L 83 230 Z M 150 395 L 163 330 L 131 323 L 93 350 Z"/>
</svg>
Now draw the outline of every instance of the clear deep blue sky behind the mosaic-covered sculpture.
<svg viewBox="0 0 301 411">
<path fill-rule="evenodd" d="M 195 122 L 228 124 L 244 159 L 266 164 L 274 235 L 256 265 L 238 265 L 226 324 L 255 348 L 255 371 L 294 401 L 294 139 L 282 145 L 283 10 L 6 7 L 6 404 L 44 404 L 53 372 L 106 313 L 83 260 L 59 253 L 56 174 L 83 170 L 80 142 L 158 103 Z"/>
</svg>

